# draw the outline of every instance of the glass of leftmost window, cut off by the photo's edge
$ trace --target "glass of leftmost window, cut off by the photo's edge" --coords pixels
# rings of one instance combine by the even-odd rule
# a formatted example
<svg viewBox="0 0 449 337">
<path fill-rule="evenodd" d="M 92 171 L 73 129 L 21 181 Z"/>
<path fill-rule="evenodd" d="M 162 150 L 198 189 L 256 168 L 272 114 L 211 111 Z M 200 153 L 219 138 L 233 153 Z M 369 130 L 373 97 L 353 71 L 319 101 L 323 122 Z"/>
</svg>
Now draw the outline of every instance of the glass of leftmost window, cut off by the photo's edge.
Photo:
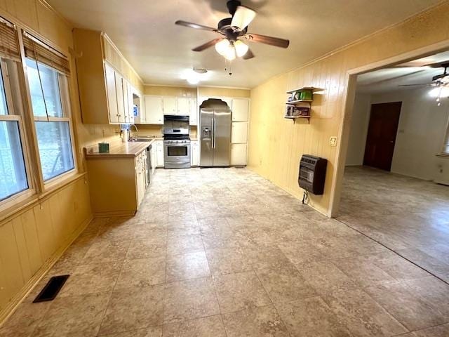
<svg viewBox="0 0 449 337">
<path fill-rule="evenodd" d="M 6 62 L 1 61 L 0 74 L 0 201 L 28 189 L 25 158 L 22 150 L 21 117 L 11 114 L 6 99 L 3 74 Z"/>
</svg>

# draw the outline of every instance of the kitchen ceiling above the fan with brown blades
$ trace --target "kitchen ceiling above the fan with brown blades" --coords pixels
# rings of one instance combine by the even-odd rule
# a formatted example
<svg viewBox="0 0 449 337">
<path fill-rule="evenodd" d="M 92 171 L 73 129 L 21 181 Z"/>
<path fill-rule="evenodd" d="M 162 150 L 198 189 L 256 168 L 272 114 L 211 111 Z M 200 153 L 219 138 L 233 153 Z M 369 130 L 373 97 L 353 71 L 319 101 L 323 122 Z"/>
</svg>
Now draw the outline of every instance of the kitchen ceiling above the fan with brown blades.
<svg viewBox="0 0 449 337">
<path fill-rule="evenodd" d="M 257 11 L 248 31 L 290 39 L 288 49 L 250 42 L 256 57 L 232 62 L 214 48 L 191 49 L 217 34 L 174 25 L 216 27 L 229 17 L 225 0 L 48 0 L 76 27 L 106 32 L 146 84 L 186 85 L 182 72 L 209 70 L 208 86 L 253 88 L 335 48 L 401 22 L 441 0 L 243 0 Z"/>
</svg>

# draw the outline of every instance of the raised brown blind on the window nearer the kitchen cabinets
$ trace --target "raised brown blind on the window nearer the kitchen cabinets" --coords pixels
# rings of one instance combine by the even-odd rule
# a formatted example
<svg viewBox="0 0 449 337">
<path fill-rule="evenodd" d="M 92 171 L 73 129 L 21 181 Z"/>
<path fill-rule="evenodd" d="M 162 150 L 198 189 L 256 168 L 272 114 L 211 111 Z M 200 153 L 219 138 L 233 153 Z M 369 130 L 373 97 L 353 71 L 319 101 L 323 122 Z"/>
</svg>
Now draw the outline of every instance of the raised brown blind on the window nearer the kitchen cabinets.
<svg viewBox="0 0 449 337">
<path fill-rule="evenodd" d="M 26 32 L 23 34 L 23 45 L 27 58 L 42 62 L 63 74 L 70 74 L 69 60 L 51 46 L 44 44 Z"/>
</svg>

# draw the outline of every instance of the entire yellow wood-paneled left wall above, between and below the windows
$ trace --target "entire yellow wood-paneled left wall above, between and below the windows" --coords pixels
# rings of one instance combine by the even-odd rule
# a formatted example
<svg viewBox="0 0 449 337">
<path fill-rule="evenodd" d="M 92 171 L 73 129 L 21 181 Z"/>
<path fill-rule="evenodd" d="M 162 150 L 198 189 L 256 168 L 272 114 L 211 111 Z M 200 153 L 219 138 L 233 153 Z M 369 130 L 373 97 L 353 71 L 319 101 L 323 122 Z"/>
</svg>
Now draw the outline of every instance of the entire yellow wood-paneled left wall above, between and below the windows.
<svg viewBox="0 0 449 337">
<path fill-rule="evenodd" d="M 81 124 L 74 58 L 69 51 L 72 26 L 43 0 L 0 0 L 0 15 L 69 57 L 74 143 L 83 172 L 83 146 L 117 136 L 114 126 Z M 86 175 L 81 173 L 7 213 L 0 214 L 0 323 L 91 220 Z"/>
</svg>

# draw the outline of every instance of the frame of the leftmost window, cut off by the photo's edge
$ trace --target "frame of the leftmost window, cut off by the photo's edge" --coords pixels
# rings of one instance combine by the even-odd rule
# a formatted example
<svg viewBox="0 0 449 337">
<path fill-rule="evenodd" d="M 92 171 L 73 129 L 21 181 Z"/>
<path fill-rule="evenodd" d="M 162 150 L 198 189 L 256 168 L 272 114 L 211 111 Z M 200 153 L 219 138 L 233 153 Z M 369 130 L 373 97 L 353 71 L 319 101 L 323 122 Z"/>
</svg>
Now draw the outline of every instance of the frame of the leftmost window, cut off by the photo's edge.
<svg viewBox="0 0 449 337">
<path fill-rule="evenodd" d="M 17 62 L 12 60 L 12 62 Z M 18 62 L 19 63 L 19 62 Z M 17 65 L 17 70 L 20 72 L 20 64 Z M 29 146 L 27 145 L 27 133 L 24 125 L 24 116 L 16 111 L 14 103 L 13 103 L 13 95 L 11 93 L 11 82 L 9 80 L 8 74 L 8 65 L 6 64 L 6 60 L 0 57 L 0 76 L 3 79 L 4 83 L 4 91 L 5 91 L 5 100 L 6 100 L 6 109 L 8 110 L 8 114 L 1 114 L 0 121 L 17 121 L 18 122 L 18 131 L 20 137 L 20 145 L 22 148 L 22 156 L 25 166 L 25 176 L 27 177 L 27 185 L 28 188 L 17 192 L 10 197 L 7 197 L 4 200 L 0 201 L 0 211 L 4 211 L 4 209 L 8 209 L 14 204 L 19 203 L 20 201 L 24 201 L 32 195 L 36 194 L 36 187 L 34 184 L 33 176 L 31 173 L 31 161 L 29 156 Z M 20 74 L 18 74 L 20 77 Z M 22 113 L 26 113 L 22 111 Z"/>
</svg>

